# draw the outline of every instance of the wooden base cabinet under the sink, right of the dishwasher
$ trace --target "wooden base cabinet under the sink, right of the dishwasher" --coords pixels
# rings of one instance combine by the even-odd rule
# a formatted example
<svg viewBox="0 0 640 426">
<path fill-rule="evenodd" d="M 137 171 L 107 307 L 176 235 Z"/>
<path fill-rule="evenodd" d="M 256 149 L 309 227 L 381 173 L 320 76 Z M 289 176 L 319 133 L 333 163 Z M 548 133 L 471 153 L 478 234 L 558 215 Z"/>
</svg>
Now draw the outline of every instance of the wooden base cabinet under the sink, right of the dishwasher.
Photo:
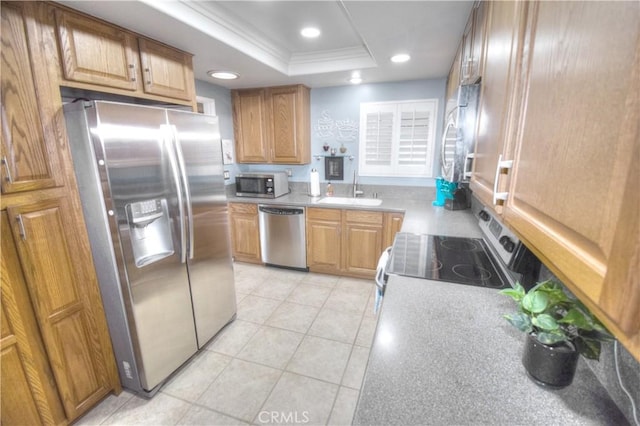
<svg viewBox="0 0 640 426">
<path fill-rule="evenodd" d="M 373 278 L 378 258 L 393 243 L 402 217 L 373 210 L 307 208 L 309 270 Z"/>
</svg>

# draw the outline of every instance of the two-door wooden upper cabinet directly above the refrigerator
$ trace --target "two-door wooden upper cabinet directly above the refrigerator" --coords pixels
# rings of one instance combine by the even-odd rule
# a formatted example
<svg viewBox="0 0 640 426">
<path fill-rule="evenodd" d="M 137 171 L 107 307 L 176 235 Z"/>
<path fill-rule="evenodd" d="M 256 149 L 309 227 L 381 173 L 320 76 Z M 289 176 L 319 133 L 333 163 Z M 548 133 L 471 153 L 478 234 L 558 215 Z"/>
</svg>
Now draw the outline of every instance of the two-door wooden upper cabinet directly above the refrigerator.
<svg viewBox="0 0 640 426">
<path fill-rule="evenodd" d="M 195 105 L 192 55 L 55 7 L 62 85 Z"/>
</svg>

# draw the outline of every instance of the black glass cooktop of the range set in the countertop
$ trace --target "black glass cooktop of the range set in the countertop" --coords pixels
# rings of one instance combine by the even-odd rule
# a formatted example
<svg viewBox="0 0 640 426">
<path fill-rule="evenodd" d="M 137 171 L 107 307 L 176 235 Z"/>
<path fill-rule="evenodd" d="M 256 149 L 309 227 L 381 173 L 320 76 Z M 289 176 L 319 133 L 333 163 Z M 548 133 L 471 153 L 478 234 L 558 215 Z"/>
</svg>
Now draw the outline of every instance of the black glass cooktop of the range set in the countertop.
<svg viewBox="0 0 640 426">
<path fill-rule="evenodd" d="M 509 282 L 481 238 L 398 233 L 387 273 L 490 288 Z"/>
</svg>

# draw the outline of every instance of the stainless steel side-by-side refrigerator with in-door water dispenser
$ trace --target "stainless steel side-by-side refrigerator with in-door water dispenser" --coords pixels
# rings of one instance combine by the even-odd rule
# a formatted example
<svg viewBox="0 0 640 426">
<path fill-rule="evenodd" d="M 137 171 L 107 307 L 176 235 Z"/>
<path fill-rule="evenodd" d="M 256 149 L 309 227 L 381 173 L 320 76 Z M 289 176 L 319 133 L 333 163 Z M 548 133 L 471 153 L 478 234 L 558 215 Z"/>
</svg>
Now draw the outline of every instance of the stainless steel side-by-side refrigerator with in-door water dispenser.
<svg viewBox="0 0 640 426">
<path fill-rule="evenodd" d="M 120 379 L 151 396 L 236 313 L 218 119 L 64 107 Z"/>
</svg>

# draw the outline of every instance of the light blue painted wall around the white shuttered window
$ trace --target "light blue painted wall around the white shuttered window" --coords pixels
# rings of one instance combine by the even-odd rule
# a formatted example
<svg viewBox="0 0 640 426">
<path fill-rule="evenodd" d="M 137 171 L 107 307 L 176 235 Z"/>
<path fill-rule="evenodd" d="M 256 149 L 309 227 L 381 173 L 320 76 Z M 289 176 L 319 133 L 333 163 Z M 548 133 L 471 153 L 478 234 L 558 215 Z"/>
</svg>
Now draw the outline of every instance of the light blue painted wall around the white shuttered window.
<svg viewBox="0 0 640 426">
<path fill-rule="evenodd" d="M 233 164 L 225 167 L 229 170 L 232 179 L 231 183 L 239 172 L 249 171 L 277 171 L 290 169 L 292 177 L 289 180 L 294 182 L 307 182 L 312 168 L 318 169 L 321 181 L 324 182 L 324 161 L 316 160 L 314 155 L 325 155 L 322 145 L 328 140 L 329 145 L 339 149 L 341 142 L 336 139 L 324 139 L 321 137 L 318 123 L 326 111 L 333 120 L 351 120 L 356 125 L 360 122 L 360 103 L 362 102 L 386 102 L 386 101 L 406 101 L 414 99 L 438 99 L 438 120 L 436 128 L 436 152 L 439 149 L 442 135 L 442 122 L 444 115 L 444 95 L 446 89 L 446 79 L 435 80 L 413 80 L 394 83 L 361 84 L 338 87 L 326 87 L 311 90 L 311 164 L 304 166 L 267 164 Z M 196 92 L 199 96 L 205 96 L 216 100 L 216 114 L 220 117 L 220 130 L 223 139 L 233 139 L 233 118 L 231 110 L 230 91 L 217 85 L 196 80 Z M 351 161 L 345 158 L 344 182 L 350 182 L 353 178 L 353 171 L 358 167 L 358 138 L 353 142 L 346 142 L 347 148 L 345 156 L 352 155 Z M 338 152 L 338 155 L 339 152 Z M 437 155 L 434 158 L 438 158 Z M 437 163 L 437 161 L 436 161 Z M 434 164 L 434 176 L 437 176 L 439 165 Z M 358 181 L 363 184 L 376 185 L 402 185 L 402 186 L 434 186 L 433 178 L 393 178 L 393 177 L 359 177 Z"/>
</svg>

